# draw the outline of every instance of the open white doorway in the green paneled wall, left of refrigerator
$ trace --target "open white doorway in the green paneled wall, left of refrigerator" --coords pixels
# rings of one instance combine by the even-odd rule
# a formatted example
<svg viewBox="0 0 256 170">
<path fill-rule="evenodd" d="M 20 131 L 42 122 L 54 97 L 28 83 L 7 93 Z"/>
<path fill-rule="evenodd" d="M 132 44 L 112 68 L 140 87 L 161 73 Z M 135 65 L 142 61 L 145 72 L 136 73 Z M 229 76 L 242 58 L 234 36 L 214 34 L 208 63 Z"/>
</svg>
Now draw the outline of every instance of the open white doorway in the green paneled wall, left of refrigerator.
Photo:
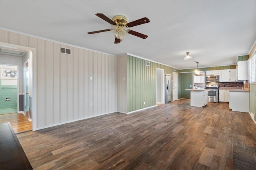
<svg viewBox="0 0 256 170">
<path fill-rule="evenodd" d="M 164 104 L 164 70 L 156 68 L 156 103 Z"/>
</svg>

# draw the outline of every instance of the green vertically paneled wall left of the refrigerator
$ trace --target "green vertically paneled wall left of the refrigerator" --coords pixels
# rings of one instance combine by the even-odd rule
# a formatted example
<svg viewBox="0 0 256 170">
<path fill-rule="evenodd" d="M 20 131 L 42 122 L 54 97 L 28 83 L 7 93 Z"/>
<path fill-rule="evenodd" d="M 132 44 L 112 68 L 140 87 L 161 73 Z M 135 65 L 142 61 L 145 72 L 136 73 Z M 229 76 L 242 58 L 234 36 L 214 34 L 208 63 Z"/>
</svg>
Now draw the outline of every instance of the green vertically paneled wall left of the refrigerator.
<svg viewBox="0 0 256 170">
<path fill-rule="evenodd" d="M 174 68 L 152 61 L 146 66 L 146 61 L 127 55 L 127 112 L 156 105 L 156 68 L 164 69 L 164 74 L 174 72 Z"/>
</svg>

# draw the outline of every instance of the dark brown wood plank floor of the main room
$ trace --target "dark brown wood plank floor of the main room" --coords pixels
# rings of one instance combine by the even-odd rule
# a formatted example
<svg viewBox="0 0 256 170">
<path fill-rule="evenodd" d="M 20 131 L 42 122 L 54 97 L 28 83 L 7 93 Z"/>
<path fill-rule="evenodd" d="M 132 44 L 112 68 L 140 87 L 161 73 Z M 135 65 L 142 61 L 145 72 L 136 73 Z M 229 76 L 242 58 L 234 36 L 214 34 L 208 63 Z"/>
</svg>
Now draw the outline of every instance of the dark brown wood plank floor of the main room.
<svg viewBox="0 0 256 170">
<path fill-rule="evenodd" d="M 17 135 L 34 169 L 233 168 L 233 145 L 256 147 L 256 124 L 227 103 L 178 100 Z"/>
</svg>

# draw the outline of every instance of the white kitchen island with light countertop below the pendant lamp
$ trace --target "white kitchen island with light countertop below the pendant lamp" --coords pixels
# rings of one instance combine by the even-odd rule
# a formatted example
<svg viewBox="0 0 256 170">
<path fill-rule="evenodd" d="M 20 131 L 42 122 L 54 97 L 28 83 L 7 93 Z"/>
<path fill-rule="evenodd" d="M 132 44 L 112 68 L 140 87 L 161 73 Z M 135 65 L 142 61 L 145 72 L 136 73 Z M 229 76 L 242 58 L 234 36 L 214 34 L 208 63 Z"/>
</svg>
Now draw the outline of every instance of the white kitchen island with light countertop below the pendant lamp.
<svg viewBox="0 0 256 170">
<path fill-rule="evenodd" d="M 203 107 L 208 104 L 208 89 L 185 89 L 190 91 L 190 106 Z"/>
</svg>

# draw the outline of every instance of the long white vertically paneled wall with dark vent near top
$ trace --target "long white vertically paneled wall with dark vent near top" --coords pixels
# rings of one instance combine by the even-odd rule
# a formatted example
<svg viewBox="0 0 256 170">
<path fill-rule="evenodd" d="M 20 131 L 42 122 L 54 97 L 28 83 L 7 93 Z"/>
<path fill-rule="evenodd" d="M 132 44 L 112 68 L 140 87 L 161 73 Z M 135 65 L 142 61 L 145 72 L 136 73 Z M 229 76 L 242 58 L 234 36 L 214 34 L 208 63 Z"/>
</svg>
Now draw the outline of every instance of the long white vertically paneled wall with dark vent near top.
<svg viewBox="0 0 256 170">
<path fill-rule="evenodd" d="M 117 111 L 115 56 L 2 29 L 0 42 L 36 49 L 36 129 Z"/>
</svg>

